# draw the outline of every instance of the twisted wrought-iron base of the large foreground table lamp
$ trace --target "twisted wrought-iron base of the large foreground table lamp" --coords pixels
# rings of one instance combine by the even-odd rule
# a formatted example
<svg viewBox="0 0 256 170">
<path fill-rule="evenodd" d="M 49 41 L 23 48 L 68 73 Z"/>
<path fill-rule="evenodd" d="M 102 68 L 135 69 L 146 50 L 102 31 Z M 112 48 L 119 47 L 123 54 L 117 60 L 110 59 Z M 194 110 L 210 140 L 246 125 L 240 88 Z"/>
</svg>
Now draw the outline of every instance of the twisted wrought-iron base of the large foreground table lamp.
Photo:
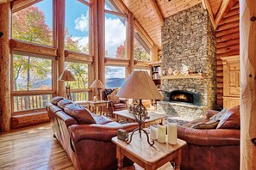
<svg viewBox="0 0 256 170">
<path fill-rule="evenodd" d="M 148 134 L 147 134 L 147 131 L 143 130 L 142 127 L 141 127 L 141 125 L 145 122 L 145 120 L 146 120 L 146 118 L 147 118 L 147 109 L 146 109 L 145 106 L 142 105 L 141 100 L 140 100 L 140 102 L 139 102 L 139 105 L 136 106 L 136 107 L 134 107 L 133 115 L 134 115 L 134 118 L 135 118 L 136 122 L 138 122 L 139 127 L 136 128 L 136 129 L 132 132 L 130 139 L 127 139 L 125 142 L 126 142 L 127 144 L 129 144 L 129 143 L 132 142 L 133 135 L 134 135 L 134 132 L 135 132 L 135 131 L 139 131 L 140 137 L 141 137 L 141 131 L 144 131 L 144 133 L 145 133 L 146 136 L 147 136 L 147 143 L 148 143 L 150 146 L 153 146 L 154 142 L 152 141 L 152 143 L 150 143 L 149 137 L 148 137 Z"/>
</svg>

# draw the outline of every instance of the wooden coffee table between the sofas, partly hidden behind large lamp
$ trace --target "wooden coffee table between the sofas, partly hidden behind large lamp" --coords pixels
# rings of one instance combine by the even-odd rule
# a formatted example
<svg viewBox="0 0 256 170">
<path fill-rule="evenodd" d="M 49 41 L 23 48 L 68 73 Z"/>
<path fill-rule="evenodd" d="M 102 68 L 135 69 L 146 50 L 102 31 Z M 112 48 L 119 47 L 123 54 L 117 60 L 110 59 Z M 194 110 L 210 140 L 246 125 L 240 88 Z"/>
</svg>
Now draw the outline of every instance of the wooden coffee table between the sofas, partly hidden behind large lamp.
<svg viewBox="0 0 256 170">
<path fill-rule="evenodd" d="M 128 110 L 114 111 L 113 114 L 117 122 L 120 120 L 124 120 L 129 123 L 136 122 L 134 119 L 134 115 L 132 113 L 129 113 Z M 142 124 L 142 128 L 146 128 L 153 124 L 165 124 L 165 118 L 166 118 L 165 114 L 148 112 L 148 116 L 150 118 L 147 118 L 145 120 L 144 124 Z"/>
</svg>

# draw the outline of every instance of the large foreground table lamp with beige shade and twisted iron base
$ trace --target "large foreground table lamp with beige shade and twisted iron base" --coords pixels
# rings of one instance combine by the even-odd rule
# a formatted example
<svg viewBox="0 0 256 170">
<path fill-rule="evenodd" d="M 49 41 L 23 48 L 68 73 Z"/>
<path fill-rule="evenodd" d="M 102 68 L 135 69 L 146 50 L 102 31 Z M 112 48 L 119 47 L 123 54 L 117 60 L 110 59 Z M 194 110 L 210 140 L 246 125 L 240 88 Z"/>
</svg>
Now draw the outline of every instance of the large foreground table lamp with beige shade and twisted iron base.
<svg viewBox="0 0 256 170">
<path fill-rule="evenodd" d="M 147 118 L 147 108 L 142 105 L 141 100 L 161 100 L 163 96 L 159 93 L 158 88 L 153 83 L 153 80 L 148 75 L 147 71 L 133 71 L 128 77 L 128 80 L 124 82 L 122 88 L 116 94 L 117 97 L 139 100 L 139 104 L 134 106 L 133 115 L 139 127 L 135 129 L 130 137 L 130 140 L 126 143 L 132 142 L 132 137 L 135 131 L 139 131 L 141 137 L 141 131 L 144 131 L 147 135 L 147 131 L 143 130 L 141 124 L 144 123 Z M 147 143 L 153 146 L 154 142 L 150 143 L 147 135 Z"/>
</svg>

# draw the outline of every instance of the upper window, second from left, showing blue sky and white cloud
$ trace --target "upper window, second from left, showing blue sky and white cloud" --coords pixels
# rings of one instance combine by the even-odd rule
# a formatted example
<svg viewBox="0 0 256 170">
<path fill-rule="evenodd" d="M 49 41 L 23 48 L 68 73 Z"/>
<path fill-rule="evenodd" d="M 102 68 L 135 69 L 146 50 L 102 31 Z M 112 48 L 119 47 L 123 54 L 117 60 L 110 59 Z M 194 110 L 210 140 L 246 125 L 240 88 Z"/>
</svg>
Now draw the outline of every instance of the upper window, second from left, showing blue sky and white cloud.
<svg viewBox="0 0 256 170">
<path fill-rule="evenodd" d="M 74 52 L 90 54 L 89 7 L 77 0 L 66 0 L 65 47 Z"/>
</svg>

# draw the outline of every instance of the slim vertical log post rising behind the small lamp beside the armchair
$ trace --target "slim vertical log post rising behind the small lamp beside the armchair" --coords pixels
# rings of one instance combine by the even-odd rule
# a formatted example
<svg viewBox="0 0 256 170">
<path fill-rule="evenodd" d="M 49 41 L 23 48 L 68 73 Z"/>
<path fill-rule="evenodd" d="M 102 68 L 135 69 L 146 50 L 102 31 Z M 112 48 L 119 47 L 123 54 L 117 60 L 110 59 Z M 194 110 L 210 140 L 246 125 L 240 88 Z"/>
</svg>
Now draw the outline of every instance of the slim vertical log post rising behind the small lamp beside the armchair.
<svg viewBox="0 0 256 170">
<path fill-rule="evenodd" d="M 105 0 L 97 2 L 98 79 L 105 84 Z"/>
</svg>

